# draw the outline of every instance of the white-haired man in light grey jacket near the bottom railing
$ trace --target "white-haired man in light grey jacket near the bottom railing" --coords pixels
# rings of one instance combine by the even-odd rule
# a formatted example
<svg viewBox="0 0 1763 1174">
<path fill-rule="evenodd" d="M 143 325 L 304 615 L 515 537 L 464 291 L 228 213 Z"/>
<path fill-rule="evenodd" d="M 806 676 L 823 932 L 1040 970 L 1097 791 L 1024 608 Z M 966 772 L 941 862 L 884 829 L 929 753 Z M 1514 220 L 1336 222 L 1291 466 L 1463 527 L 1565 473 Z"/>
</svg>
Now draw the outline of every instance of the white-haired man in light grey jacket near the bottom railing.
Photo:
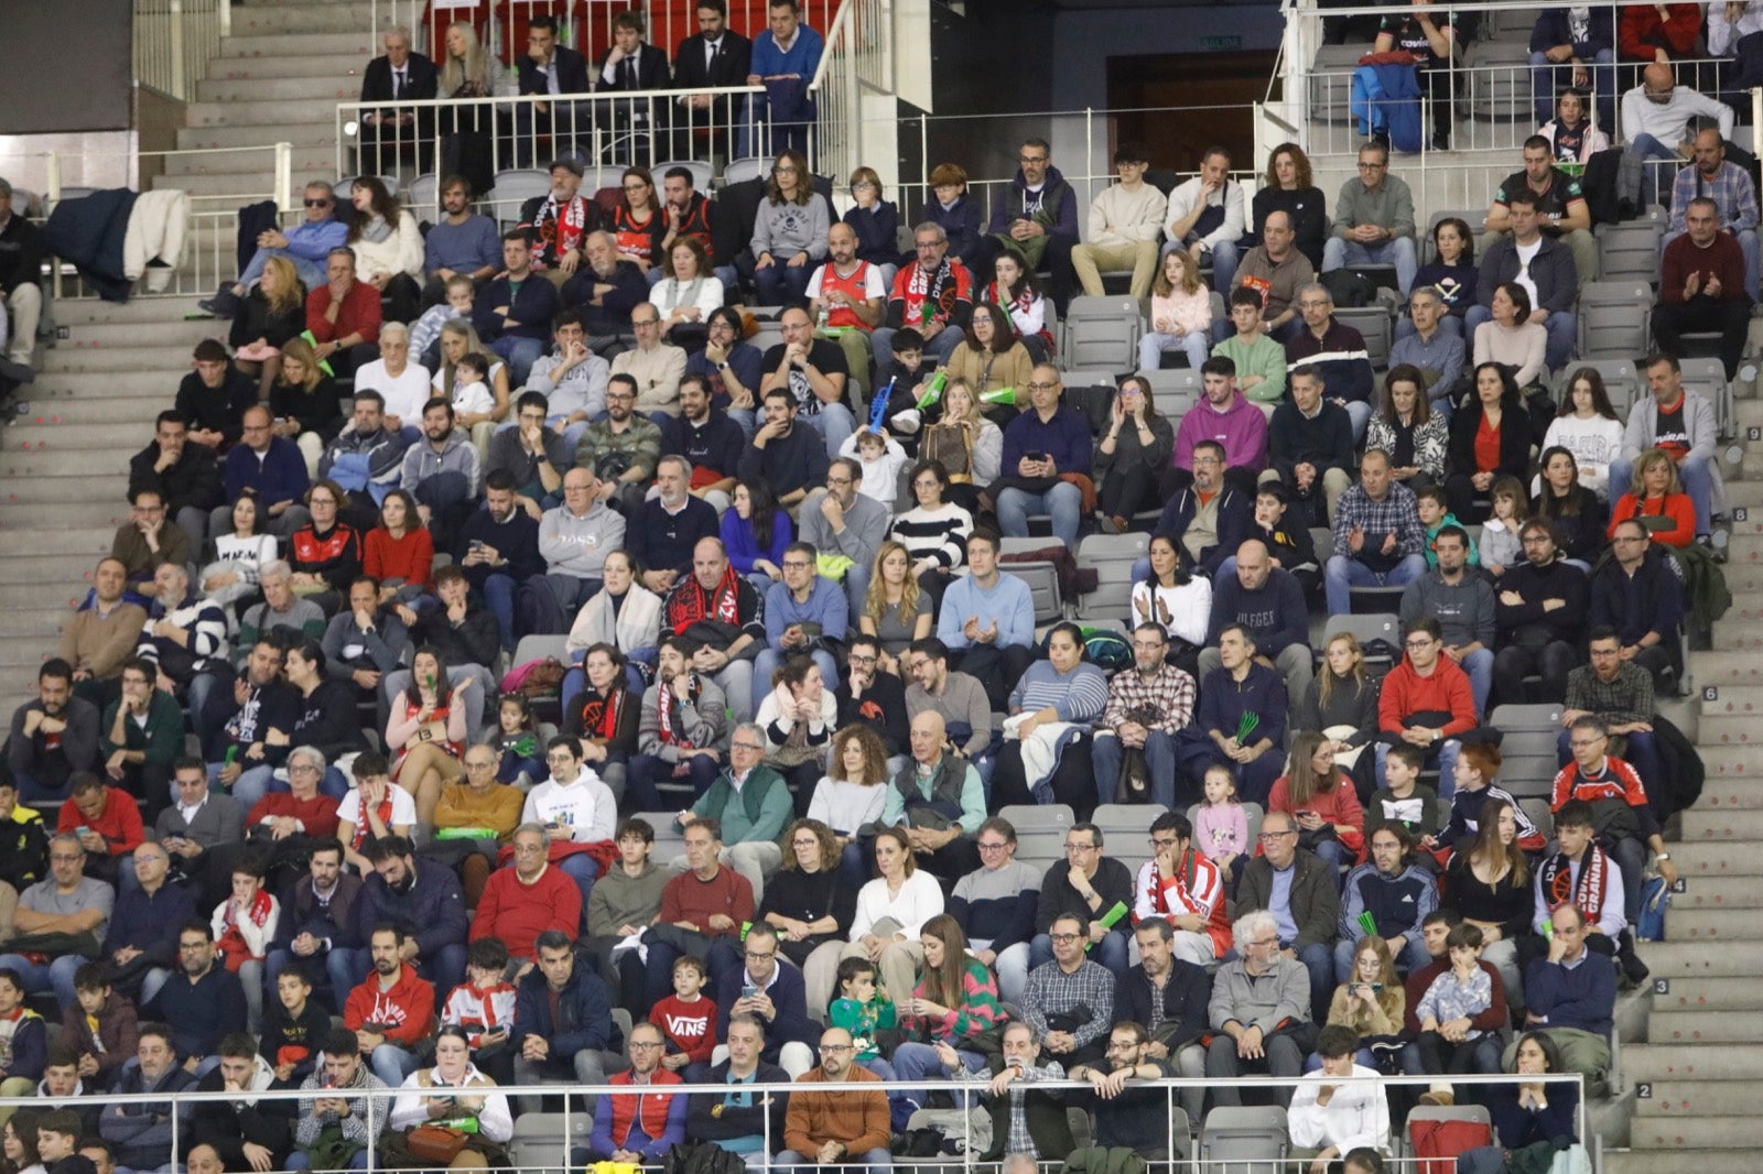
<svg viewBox="0 0 1763 1174">
<path fill-rule="evenodd" d="M 1275 818 L 1276 813 L 1268 816 Z M 1326 888 L 1333 894 L 1335 885 L 1328 883 Z M 1206 1075 L 1229 1079 L 1245 1072 L 1266 1072 L 1292 1081 L 1303 1072 L 1305 1056 L 1315 1042 L 1306 998 L 1310 982 L 1303 962 L 1280 948 L 1276 917 L 1255 906 L 1250 910 L 1231 927 L 1238 957 L 1213 975 L 1208 1019 L 1216 1035 L 1206 1047 Z M 1276 1084 L 1273 1098 L 1289 1105 L 1291 1086 Z M 1213 1089 L 1213 1103 L 1241 1105 L 1243 1093 L 1236 1086 L 1218 1086 Z"/>
</svg>

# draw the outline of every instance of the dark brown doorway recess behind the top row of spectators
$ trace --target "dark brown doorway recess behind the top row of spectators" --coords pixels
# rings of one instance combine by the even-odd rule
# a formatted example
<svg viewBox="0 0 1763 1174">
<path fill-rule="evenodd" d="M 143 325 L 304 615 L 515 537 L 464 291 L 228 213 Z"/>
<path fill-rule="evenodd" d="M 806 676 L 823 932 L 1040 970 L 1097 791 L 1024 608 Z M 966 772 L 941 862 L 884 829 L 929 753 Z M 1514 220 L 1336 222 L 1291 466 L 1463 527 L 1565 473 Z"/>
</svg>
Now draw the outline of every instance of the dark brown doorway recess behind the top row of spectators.
<svg viewBox="0 0 1763 1174">
<path fill-rule="evenodd" d="M 1186 175 L 1199 167 L 1201 152 L 1216 145 L 1231 152 L 1232 169 L 1259 171 L 1252 106 L 1268 93 L 1273 62 L 1271 49 L 1109 58 L 1107 104 L 1125 113 L 1114 115 L 1107 153 L 1112 157 L 1123 141 L 1141 141 L 1155 167 Z"/>
</svg>

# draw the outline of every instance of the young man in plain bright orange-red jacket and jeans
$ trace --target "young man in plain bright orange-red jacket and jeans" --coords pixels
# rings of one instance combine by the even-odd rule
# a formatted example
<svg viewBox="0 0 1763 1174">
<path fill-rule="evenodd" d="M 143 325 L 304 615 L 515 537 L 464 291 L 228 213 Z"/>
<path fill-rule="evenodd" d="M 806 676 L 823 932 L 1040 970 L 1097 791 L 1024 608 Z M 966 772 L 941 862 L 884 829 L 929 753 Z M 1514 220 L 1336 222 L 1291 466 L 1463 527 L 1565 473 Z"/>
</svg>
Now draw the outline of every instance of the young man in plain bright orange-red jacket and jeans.
<svg viewBox="0 0 1763 1174">
<path fill-rule="evenodd" d="M 1409 654 L 1384 677 L 1377 698 L 1377 784 L 1384 783 L 1384 760 L 1396 742 L 1419 746 L 1426 763 L 1439 767 L 1439 799 L 1456 791 L 1453 772 L 1463 749 L 1460 737 L 1476 728 L 1476 696 L 1469 673 L 1444 650 L 1444 629 L 1432 615 L 1409 624 Z"/>
</svg>

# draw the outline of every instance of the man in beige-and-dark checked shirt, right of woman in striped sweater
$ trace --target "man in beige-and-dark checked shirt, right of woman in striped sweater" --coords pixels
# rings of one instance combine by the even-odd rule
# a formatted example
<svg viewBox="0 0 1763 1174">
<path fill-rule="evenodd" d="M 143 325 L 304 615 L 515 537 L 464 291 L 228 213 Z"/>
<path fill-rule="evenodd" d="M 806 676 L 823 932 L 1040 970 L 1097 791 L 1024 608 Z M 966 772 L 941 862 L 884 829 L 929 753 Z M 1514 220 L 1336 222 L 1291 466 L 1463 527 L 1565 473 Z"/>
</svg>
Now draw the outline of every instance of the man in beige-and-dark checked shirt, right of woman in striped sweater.
<svg viewBox="0 0 1763 1174">
<path fill-rule="evenodd" d="M 1229 492 L 1229 490 L 1227 490 Z M 1091 744 L 1097 802 L 1121 793 L 1121 765 L 1139 751 L 1149 781 L 1149 799 L 1169 807 L 1176 800 L 1176 739 L 1194 719 L 1194 677 L 1165 661 L 1169 633 L 1146 620 L 1132 631 L 1132 672 L 1109 680 L 1107 709 Z"/>
</svg>

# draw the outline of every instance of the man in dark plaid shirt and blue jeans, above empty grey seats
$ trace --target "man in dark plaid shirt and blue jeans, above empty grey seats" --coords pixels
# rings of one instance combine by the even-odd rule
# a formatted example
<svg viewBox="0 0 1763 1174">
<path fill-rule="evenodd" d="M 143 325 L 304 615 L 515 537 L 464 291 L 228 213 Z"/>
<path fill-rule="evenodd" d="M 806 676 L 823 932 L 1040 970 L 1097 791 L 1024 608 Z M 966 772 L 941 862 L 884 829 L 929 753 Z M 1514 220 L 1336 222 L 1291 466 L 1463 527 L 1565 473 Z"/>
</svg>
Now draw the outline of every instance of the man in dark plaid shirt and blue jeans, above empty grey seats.
<svg viewBox="0 0 1763 1174">
<path fill-rule="evenodd" d="M 1352 587 L 1402 587 L 1426 575 L 1426 529 L 1421 525 L 1414 490 L 1391 476 L 1389 453 L 1384 450 L 1368 450 L 1359 458 L 1359 483 L 1340 495 L 1331 513 L 1335 554 L 1322 568 L 1329 615 L 1352 612 Z M 1469 536 L 1463 539 L 1467 554 Z M 1491 643 L 1491 598 L 1488 628 Z M 1490 652 L 1490 673 L 1491 659 Z"/>
</svg>

